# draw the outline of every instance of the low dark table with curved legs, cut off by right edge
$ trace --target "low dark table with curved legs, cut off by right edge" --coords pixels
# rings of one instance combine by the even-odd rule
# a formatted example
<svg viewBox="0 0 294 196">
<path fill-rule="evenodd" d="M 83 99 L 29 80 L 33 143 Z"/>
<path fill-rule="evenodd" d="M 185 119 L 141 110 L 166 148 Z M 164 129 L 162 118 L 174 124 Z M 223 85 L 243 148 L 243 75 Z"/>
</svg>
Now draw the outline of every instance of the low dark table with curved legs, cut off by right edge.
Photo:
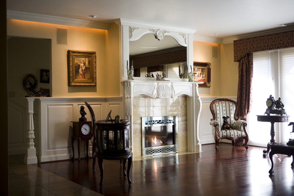
<svg viewBox="0 0 294 196">
<path fill-rule="evenodd" d="M 283 155 L 292 155 L 292 163 L 291 166 L 294 166 L 294 146 L 288 146 L 286 144 L 281 144 L 281 143 L 275 143 L 275 144 L 270 144 L 270 161 L 272 162 L 272 167 L 270 168 L 270 170 L 268 171 L 270 174 L 273 174 L 273 155 L 274 154 L 283 154 Z"/>
</svg>

